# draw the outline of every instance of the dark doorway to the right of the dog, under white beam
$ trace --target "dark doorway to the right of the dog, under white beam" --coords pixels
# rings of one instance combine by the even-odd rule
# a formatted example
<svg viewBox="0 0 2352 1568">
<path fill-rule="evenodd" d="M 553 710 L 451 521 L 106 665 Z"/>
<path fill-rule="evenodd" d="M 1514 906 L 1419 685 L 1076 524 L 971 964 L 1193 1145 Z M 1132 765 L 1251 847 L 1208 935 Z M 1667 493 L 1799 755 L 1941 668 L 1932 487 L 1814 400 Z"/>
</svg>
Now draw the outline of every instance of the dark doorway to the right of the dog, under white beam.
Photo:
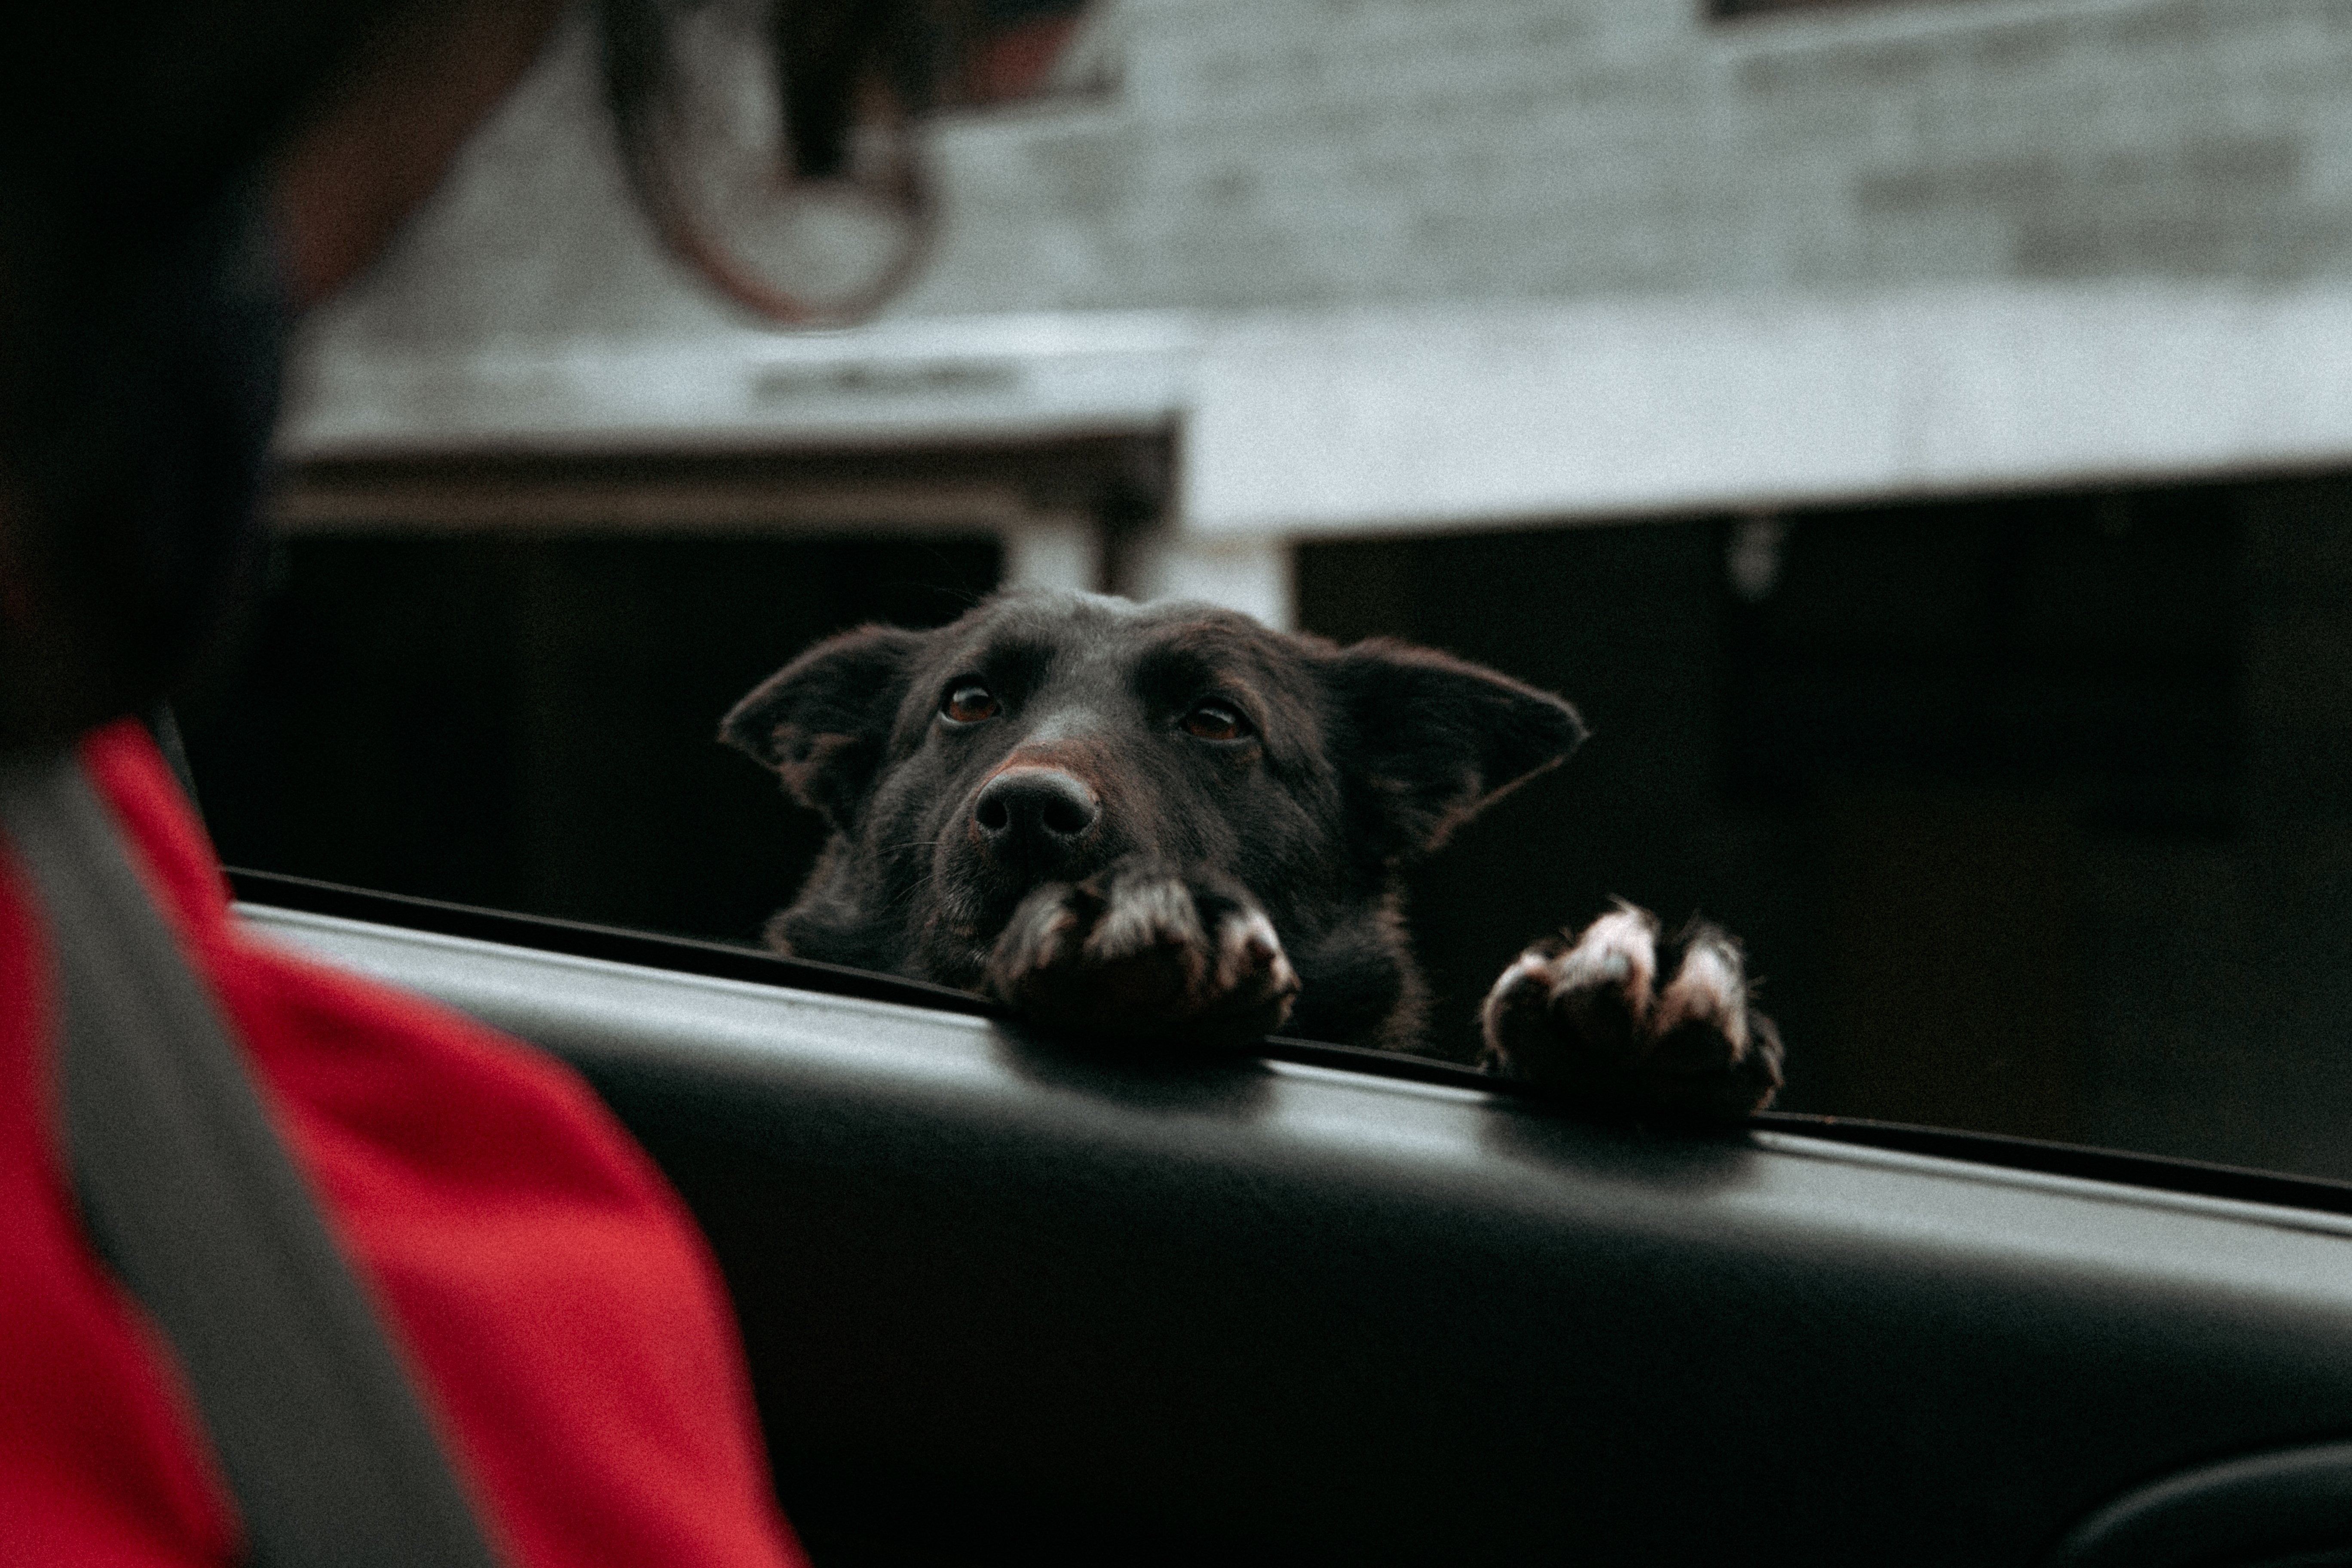
<svg viewBox="0 0 2352 1568">
<path fill-rule="evenodd" d="M 2352 1175 L 2352 489 L 1308 545 L 1301 621 L 1552 686 L 1414 877 L 1442 1044 L 1611 896 L 1738 931 L 1788 1105 Z"/>
</svg>

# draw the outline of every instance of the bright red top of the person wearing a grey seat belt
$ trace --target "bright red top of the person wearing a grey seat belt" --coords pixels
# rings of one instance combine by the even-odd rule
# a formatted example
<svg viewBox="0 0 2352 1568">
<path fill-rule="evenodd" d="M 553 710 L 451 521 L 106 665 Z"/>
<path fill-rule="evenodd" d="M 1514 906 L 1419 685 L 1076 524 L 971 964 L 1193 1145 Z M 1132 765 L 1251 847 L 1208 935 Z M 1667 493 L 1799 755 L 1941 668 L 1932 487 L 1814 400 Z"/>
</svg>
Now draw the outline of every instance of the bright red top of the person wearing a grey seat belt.
<svg viewBox="0 0 2352 1568">
<path fill-rule="evenodd" d="M 588 1088 L 463 1018 L 247 938 L 146 736 L 99 731 L 85 762 L 503 1559 L 802 1563 L 701 1237 Z M 0 842 L 0 1561 L 233 1561 L 233 1509 L 169 1352 L 73 1215 L 42 943 Z"/>
</svg>

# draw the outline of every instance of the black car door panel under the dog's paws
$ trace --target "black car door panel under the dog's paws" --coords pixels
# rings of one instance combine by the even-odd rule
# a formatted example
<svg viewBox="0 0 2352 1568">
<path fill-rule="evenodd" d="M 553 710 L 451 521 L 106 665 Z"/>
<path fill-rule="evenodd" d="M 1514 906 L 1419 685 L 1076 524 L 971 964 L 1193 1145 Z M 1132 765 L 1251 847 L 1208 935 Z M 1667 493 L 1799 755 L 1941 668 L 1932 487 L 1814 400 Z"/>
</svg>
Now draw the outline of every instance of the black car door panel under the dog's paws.
<svg viewBox="0 0 2352 1568">
<path fill-rule="evenodd" d="M 2352 1434 L 2336 1213 L 247 914 L 614 1105 L 818 1561 L 2032 1563 Z"/>
</svg>

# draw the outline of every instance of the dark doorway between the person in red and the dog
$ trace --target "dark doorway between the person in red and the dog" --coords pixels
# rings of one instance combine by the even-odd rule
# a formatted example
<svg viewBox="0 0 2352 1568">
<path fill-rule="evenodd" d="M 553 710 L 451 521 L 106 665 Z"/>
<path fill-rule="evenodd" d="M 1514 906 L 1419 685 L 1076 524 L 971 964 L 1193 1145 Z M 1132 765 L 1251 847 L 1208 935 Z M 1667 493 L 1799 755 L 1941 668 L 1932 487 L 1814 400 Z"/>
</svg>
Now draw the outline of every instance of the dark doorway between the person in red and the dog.
<svg viewBox="0 0 2352 1568">
<path fill-rule="evenodd" d="M 802 646 L 938 625 L 988 538 L 292 538 L 186 710 L 230 865 L 757 940 L 818 823 L 717 745 Z"/>
</svg>

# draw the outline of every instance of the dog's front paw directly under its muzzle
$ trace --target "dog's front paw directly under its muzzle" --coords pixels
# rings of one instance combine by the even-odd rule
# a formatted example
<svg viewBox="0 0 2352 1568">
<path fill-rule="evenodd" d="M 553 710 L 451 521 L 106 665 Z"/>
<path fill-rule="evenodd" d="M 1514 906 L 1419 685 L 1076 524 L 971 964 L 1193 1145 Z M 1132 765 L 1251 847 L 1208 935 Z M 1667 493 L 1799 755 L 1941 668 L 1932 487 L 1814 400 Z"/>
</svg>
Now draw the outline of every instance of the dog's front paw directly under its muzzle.
<svg viewBox="0 0 2352 1568">
<path fill-rule="evenodd" d="M 1122 860 L 1021 900 L 983 990 L 1051 1030 L 1216 1046 L 1282 1027 L 1298 976 L 1242 889 Z"/>
</svg>

